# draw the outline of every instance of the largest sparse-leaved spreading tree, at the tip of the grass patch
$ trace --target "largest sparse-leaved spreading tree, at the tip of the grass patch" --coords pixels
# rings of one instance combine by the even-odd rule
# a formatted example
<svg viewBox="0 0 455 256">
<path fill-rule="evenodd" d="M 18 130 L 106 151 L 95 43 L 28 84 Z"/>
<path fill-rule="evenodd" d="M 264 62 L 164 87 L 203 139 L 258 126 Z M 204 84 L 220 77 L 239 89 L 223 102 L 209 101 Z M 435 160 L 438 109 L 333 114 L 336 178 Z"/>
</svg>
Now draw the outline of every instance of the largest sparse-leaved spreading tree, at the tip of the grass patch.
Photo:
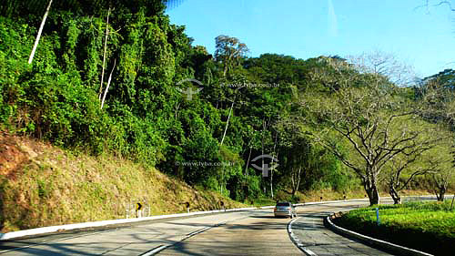
<svg viewBox="0 0 455 256">
<path fill-rule="evenodd" d="M 370 73 L 365 71 L 370 67 L 352 68 L 339 62 L 329 62 L 329 67 L 334 70 L 332 77 L 315 70 L 313 80 L 336 87 L 329 95 L 307 93 L 301 106 L 316 118 L 316 125 L 324 124 L 315 138 L 358 174 L 370 204 L 378 204 L 379 175 L 386 164 L 430 147 L 434 141 L 420 138 L 431 131 L 407 125 L 420 117 L 410 102 L 395 97 L 397 87 L 379 69 Z M 330 82 L 324 83 L 325 79 Z M 350 156 L 341 150 L 340 142 L 352 149 Z"/>
</svg>

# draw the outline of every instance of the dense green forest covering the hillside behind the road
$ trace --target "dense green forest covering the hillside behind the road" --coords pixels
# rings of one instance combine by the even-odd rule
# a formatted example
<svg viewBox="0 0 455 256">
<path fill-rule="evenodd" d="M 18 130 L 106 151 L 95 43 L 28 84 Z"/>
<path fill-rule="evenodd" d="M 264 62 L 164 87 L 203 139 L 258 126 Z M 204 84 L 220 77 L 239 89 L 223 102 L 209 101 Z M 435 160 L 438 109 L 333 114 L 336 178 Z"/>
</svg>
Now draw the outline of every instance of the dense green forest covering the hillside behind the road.
<svg viewBox="0 0 455 256">
<path fill-rule="evenodd" d="M 250 57 L 232 36 L 208 53 L 158 0 L 52 3 L 28 64 L 48 4 L 1 6 L 2 130 L 235 200 L 450 189 L 454 70 L 405 83 L 380 56 Z"/>
</svg>

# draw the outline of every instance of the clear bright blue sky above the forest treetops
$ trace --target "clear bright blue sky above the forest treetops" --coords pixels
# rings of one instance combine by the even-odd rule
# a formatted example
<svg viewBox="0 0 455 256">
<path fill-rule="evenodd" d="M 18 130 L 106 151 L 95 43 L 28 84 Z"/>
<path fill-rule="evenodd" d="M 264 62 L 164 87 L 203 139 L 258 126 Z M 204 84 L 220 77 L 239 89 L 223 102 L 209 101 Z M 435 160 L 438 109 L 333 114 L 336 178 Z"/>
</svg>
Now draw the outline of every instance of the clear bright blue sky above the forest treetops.
<svg viewBox="0 0 455 256">
<path fill-rule="evenodd" d="M 433 1 L 433 0 L 432 0 Z M 436 1 L 436 0 L 434 0 Z M 249 56 L 307 59 L 381 51 L 419 77 L 455 68 L 455 12 L 424 0 L 183 0 L 167 10 L 194 45 L 215 51 L 215 37 L 235 36 Z"/>
</svg>

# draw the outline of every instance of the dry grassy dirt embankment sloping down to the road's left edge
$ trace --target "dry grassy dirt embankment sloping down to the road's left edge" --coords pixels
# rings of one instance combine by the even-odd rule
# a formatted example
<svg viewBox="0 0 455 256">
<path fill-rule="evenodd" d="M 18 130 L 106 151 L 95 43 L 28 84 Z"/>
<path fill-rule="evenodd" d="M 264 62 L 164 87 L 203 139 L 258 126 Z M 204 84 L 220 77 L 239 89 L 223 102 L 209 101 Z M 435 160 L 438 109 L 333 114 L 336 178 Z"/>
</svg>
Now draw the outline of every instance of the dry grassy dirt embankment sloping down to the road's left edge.
<svg viewBox="0 0 455 256">
<path fill-rule="evenodd" d="M 88 156 L 0 133 L 0 232 L 245 205 L 191 188 L 157 169 L 113 156 Z M 130 210 L 130 211 L 128 211 Z"/>
</svg>

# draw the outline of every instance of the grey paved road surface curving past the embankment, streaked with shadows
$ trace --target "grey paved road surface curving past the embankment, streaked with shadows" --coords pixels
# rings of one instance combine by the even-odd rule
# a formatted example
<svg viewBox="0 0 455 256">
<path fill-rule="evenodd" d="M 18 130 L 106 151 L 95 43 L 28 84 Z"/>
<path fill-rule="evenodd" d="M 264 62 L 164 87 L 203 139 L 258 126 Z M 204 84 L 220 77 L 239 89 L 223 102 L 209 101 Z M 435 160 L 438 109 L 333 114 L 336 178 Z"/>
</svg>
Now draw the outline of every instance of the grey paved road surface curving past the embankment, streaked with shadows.
<svg viewBox="0 0 455 256">
<path fill-rule="evenodd" d="M 343 201 L 298 207 L 292 230 L 314 255 L 391 255 L 346 239 L 323 225 L 323 217 L 366 206 Z M 0 255 L 305 255 L 288 234 L 290 219 L 271 209 L 228 212 L 129 227 L 84 230 L 0 243 Z"/>
</svg>

